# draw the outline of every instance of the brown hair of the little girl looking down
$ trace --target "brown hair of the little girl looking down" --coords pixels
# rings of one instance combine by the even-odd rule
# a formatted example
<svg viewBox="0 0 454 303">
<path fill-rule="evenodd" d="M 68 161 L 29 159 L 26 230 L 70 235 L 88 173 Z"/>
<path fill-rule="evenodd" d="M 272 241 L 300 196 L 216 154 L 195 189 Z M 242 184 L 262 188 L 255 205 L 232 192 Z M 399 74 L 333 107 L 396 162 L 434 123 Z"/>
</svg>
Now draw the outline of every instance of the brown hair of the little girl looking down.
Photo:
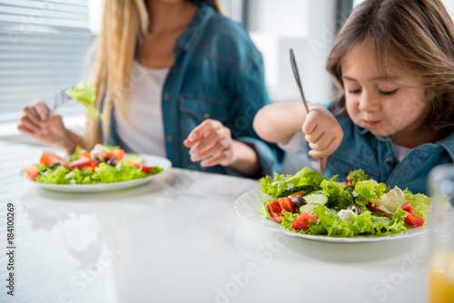
<svg viewBox="0 0 454 303">
<path fill-rule="evenodd" d="M 368 43 L 380 72 L 390 59 L 424 85 L 431 106 L 426 125 L 452 131 L 454 125 L 454 24 L 439 0 L 366 0 L 358 5 L 337 35 L 327 69 L 343 87 L 341 61 L 352 47 Z M 347 114 L 345 95 L 335 110 Z"/>
</svg>

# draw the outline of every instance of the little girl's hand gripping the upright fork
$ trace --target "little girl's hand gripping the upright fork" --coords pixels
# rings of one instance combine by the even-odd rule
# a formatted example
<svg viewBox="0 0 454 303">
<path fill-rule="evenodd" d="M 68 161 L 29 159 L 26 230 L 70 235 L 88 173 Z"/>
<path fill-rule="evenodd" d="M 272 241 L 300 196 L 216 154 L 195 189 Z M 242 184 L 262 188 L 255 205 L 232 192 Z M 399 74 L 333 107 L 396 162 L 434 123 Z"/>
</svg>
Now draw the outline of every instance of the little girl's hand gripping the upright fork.
<svg viewBox="0 0 454 303">
<path fill-rule="evenodd" d="M 325 158 L 341 145 L 341 125 L 326 108 L 313 106 L 302 124 L 301 131 L 305 133 L 305 139 L 312 149 L 309 154 L 314 158 L 321 158 L 324 168 Z"/>
</svg>

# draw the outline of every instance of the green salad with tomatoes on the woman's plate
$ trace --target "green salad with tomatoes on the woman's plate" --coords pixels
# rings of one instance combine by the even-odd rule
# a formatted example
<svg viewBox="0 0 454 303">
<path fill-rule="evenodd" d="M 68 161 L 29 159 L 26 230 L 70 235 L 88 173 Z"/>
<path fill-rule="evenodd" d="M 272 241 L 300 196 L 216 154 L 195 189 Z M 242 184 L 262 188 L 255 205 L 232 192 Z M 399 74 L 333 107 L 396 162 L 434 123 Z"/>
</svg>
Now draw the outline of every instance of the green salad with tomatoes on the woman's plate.
<svg viewBox="0 0 454 303">
<path fill-rule="evenodd" d="M 147 166 L 137 154 L 118 147 L 96 144 L 90 152 L 77 147 L 68 160 L 54 152 L 43 152 L 39 163 L 24 168 L 31 181 L 49 184 L 99 184 L 130 181 L 163 171 Z"/>
</svg>

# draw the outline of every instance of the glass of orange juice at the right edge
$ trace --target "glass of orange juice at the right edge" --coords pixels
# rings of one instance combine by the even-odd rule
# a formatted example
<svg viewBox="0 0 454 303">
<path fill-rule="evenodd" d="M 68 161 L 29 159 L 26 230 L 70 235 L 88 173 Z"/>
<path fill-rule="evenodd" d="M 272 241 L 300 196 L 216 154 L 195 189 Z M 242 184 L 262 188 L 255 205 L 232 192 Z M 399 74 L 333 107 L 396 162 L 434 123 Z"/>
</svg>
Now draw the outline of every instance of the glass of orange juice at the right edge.
<svg viewBox="0 0 454 303">
<path fill-rule="evenodd" d="M 429 302 L 454 302 L 454 165 L 429 173 L 433 238 L 429 259 Z"/>
</svg>

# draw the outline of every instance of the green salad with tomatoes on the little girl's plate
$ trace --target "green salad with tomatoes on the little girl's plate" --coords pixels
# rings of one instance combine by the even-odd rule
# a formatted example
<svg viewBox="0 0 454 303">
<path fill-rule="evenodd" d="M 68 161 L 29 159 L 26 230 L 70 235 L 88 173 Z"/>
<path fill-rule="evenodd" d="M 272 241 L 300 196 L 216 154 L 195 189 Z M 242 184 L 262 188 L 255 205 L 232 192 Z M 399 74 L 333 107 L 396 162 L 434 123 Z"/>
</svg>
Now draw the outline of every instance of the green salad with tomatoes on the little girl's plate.
<svg viewBox="0 0 454 303">
<path fill-rule="evenodd" d="M 351 171 L 346 185 L 304 168 L 261 179 L 260 214 L 293 232 L 329 237 L 384 236 L 425 224 L 430 200 Z"/>
</svg>

